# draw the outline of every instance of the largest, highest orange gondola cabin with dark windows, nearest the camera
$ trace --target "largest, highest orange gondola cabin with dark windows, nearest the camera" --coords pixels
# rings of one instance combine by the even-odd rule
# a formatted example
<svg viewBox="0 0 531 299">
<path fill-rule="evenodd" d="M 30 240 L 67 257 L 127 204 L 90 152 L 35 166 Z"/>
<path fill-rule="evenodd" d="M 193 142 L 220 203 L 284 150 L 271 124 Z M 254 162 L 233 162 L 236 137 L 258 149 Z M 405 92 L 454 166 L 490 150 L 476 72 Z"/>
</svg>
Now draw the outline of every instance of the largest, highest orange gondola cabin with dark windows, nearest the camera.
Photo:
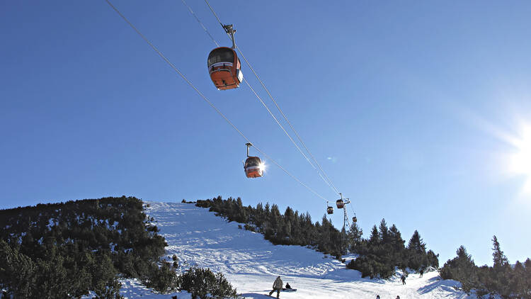
<svg viewBox="0 0 531 299">
<path fill-rule="evenodd" d="M 241 63 L 230 47 L 217 47 L 208 55 L 210 79 L 218 90 L 235 89 L 244 81 Z"/>
</svg>

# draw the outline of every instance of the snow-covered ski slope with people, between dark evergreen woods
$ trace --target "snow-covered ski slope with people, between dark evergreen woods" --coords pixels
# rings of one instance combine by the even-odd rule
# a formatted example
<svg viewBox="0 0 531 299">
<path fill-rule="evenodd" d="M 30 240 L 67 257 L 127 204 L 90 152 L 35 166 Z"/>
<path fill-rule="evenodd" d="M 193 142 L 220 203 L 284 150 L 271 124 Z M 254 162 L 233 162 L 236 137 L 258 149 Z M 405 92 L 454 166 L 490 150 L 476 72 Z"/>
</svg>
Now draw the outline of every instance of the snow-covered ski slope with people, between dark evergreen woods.
<svg viewBox="0 0 531 299">
<path fill-rule="evenodd" d="M 198 265 L 221 271 L 245 298 L 269 298 L 277 276 L 289 282 L 295 293 L 280 298 L 472 298 L 456 291 L 455 281 L 441 281 L 436 271 L 410 274 L 403 286 L 398 277 L 389 281 L 361 278 L 360 272 L 312 249 L 275 246 L 263 235 L 241 230 L 205 208 L 186 203 L 149 203 L 149 216 L 156 221 L 181 269 Z M 169 298 L 155 295 L 135 281 L 124 281 L 122 294 L 128 298 Z M 189 298 L 185 294 L 178 298 Z M 160 296 L 160 297 L 159 297 Z"/>
</svg>

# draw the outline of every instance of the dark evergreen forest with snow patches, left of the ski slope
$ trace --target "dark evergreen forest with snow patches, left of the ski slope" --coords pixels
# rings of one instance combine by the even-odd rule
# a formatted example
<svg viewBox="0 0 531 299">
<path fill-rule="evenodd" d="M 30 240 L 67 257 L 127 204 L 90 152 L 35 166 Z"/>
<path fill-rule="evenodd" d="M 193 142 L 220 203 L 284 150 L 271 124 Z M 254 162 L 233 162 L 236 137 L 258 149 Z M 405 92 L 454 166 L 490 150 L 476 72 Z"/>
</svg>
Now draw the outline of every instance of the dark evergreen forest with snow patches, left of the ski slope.
<svg viewBox="0 0 531 299">
<path fill-rule="evenodd" d="M 122 196 L 0 210 L 2 297 L 80 298 L 91 290 L 122 298 L 119 278 L 138 278 L 161 293 L 234 298 L 222 273 L 194 268 L 178 276 L 178 257 L 161 259 L 167 244 L 146 207 Z"/>
</svg>

